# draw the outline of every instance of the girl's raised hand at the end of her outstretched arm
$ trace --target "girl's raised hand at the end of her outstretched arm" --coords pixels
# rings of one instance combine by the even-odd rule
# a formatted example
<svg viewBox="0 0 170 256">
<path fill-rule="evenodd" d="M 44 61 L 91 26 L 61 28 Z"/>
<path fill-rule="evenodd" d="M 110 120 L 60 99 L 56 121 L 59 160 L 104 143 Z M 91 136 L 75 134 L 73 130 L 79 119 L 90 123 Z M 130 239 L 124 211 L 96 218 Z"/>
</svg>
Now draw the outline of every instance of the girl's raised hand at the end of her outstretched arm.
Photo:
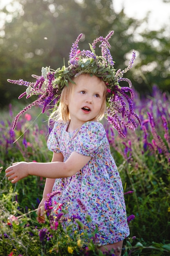
<svg viewBox="0 0 170 256">
<path fill-rule="evenodd" d="M 6 170 L 6 176 L 8 180 L 11 180 L 11 183 L 16 183 L 18 180 L 21 180 L 29 175 L 29 168 L 26 162 L 18 162 L 9 166 Z"/>
</svg>

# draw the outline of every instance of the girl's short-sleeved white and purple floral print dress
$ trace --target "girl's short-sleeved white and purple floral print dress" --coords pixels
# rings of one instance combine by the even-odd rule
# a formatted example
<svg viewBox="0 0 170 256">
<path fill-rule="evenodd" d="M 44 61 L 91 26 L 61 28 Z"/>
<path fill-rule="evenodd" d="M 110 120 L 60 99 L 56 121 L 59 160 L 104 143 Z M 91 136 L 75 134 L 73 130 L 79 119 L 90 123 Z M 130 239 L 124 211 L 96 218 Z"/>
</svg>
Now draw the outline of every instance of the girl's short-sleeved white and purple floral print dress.
<svg viewBox="0 0 170 256">
<path fill-rule="evenodd" d="M 90 156 L 91 160 L 72 177 L 55 180 L 53 191 L 61 194 L 54 196 L 53 205 L 62 204 L 68 210 L 66 218 L 76 216 L 89 232 L 93 231 L 91 224 L 97 225 L 100 245 L 123 240 L 129 236 L 123 187 L 104 127 L 97 121 L 88 121 L 79 130 L 67 132 L 68 124 L 55 122 L 47 141 L 49 150 L 62 153 L 64 162 L 73 151 Z M 85 219 L 77 199 L 84 204 L 92 223 Z"/>
</svg>

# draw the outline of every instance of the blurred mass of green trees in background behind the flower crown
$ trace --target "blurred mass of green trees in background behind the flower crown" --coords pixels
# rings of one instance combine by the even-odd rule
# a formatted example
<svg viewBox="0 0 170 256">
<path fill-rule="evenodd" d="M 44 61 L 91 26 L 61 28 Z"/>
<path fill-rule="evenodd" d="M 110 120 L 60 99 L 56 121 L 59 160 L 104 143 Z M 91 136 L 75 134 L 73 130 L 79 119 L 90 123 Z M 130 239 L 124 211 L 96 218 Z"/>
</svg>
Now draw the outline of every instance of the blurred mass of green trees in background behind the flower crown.
<svg viewBox="0 0 170 256">
<path fill-rule="evenodd" d="M 25 90 L 7 83 L 8 78 L 34 81 L 31 74 L 41 74 L 42 66 L 55 69 L 64 60 L 67 65 L 80 33 L 84 34 L 80 49 L 88 49 L 88 42 L 114 30 L 110 44 L 115 68 L 126 67 L 135 49 L 135 68 L 127 73 L 135 88 L 148 93 L 156 83 L 170 90 L 170 36 L 165 29 L 139 33 L 147 17 L 128 18 L 124 10 L 116 14 L 112 0 L 11 0 L 2 13 L 7 21 L 0 30 L 0 107 Z"/>
</svg>

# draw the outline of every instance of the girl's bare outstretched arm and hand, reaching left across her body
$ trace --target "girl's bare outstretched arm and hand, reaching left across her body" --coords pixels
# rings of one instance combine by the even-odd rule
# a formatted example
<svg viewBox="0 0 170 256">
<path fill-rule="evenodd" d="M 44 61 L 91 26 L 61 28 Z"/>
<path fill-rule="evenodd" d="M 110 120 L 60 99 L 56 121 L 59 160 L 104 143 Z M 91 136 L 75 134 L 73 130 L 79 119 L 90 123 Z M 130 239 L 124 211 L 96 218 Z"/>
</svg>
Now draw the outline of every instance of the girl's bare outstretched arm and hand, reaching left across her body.
<svg viewBox="0 0 170 256">
<path fill-rule="evenodd" d="M 6 176 L 12 183 L 27 177 L 28 175 L 36 175 L 46 178 L 66 178 L 71 177 L 82 169 L 91 157 L 73 152 L 66 162 L 19 162 L 6 169 Z"/>
</svg>

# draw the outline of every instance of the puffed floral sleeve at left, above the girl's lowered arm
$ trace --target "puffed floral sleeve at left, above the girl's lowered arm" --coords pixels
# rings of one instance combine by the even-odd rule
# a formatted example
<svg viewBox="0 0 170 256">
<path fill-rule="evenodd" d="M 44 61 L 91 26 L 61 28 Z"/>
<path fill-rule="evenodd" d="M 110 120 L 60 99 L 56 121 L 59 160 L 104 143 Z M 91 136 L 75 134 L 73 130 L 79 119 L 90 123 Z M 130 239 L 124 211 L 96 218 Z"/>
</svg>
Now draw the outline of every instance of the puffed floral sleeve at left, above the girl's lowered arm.
<svg viewBox="0 0 170 256">
<path fill-rule="evenodd" d="M 63 122 L 56 121 L 53 127 L 53 130 L 50 132 L 49 138 L 47 140 L 47 147 L 49 150 L 53 151 L 54 153 L 60 153 L 60 147 L 58 143 L 58 137 L 61 133 L 61 127 Z"/>
</svg>

